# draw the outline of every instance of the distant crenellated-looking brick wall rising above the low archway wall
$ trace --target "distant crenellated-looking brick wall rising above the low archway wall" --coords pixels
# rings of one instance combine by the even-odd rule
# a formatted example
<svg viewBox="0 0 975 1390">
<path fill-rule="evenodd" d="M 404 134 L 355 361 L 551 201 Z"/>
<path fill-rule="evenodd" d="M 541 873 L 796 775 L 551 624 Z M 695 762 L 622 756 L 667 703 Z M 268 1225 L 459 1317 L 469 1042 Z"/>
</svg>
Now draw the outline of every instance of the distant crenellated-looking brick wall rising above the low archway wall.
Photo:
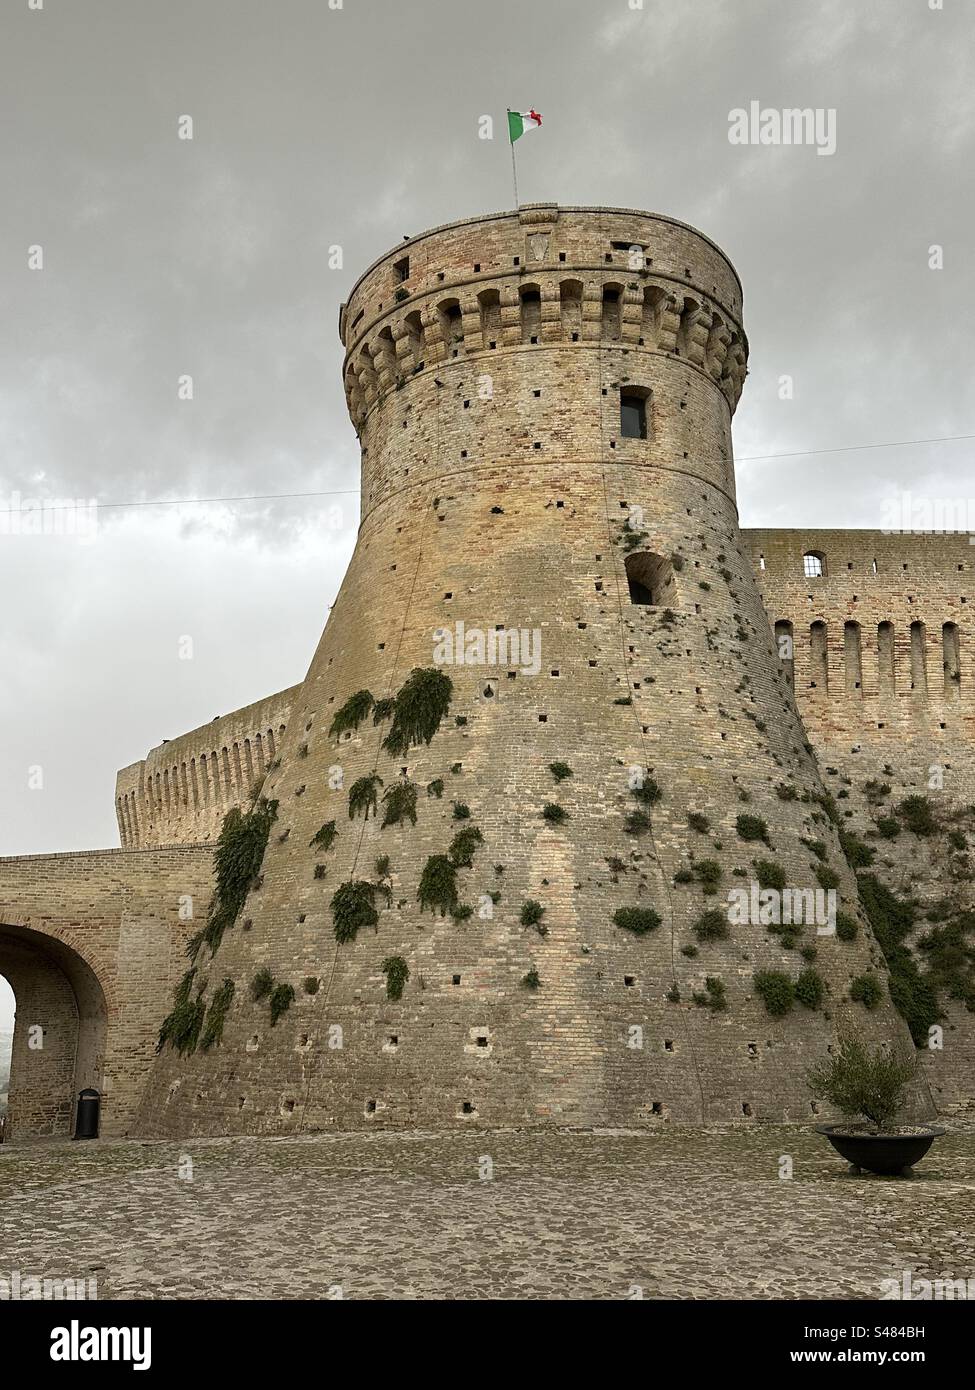
<svg viewBox="0 0 975 1390">
<path fill-rule="evenodd" d="M 299 687 L 167 739 L 115 778 L 122 848 L 214 840 L 277 756 Z"/>
</svg>

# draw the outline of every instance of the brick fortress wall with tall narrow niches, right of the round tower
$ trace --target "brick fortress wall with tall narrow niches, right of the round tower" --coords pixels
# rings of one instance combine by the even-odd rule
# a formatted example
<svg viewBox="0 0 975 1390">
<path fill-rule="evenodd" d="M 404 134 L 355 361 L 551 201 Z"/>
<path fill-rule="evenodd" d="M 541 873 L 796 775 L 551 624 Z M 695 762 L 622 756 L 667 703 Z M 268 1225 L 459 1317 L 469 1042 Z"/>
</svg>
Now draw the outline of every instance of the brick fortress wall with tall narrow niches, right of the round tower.
<svg viewBox="0 0 975 1390">
<path fill-rule="evenodd" d="M 783 663 L 850 828 L 876 851 L 872 872 L 918 906 L 917 941 L 939 903 L 975 908 L 975 549 L 968 535 L 880 531 L 744 531 L 773 631 L 793 635 Z M 807 578 L 803 556 L 823 557 Z M 764 562 L 764 567 L 762 567 Z M 814 624 L 822 624 L 814 628 Z M 878 796 L 868 783 L 887 787 Z M 905 796 L 926 796 L 930 837 L 882 838 Z M 925 1055 L 942 1111 L 974 1101 L 975 1015 L 946 1001 L 944 1049 Z"/>
</svg>

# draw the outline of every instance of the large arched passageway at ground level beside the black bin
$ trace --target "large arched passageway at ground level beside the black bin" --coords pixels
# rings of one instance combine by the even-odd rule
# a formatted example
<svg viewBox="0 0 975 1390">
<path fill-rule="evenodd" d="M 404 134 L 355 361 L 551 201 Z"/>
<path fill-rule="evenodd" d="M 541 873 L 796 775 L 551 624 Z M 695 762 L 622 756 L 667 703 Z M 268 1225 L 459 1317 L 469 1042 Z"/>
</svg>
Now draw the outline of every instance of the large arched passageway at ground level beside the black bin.
<svg viewBox="0 0 975 1390">
<path fill-rule="evenodd" d="M 7 923 L 0 923 L 0 974 L 17 1001 L 7 1137 L 68 1136 L 78 1093 L 103 1090 L 104 991 L 64 941 Z"/>
</svg>

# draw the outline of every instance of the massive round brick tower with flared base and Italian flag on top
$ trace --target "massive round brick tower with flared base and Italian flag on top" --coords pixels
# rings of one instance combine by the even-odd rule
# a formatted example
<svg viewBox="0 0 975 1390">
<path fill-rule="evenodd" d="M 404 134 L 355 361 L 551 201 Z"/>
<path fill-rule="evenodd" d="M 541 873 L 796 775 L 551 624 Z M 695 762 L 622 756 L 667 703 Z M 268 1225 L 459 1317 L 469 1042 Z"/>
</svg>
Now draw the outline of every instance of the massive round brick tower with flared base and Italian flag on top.
<svg viewBox="0 0 975 1390">
<path fill-rule="evenodd" d="M 837 1030 L 907 1030 L 886 988 L 848 997 L 883 962 L 739 534 L 733 267 L 672 218 L 527 206 L 402 243 L 339 331 L 359 539 L 264 781 L 260 876 L 198 960 L 204 1002 L 235 986 L 223 1038 L 163 1049 L 146 1122 L 811 1119 Z M 414 669 L 449 677 L 449 709 L 389 751 Z M 350 816 L 371 777 L 378 813 Z M 384 828 L 405 783 L 416 821 Z M 417 901 L 431 859 L 452 913 Z M 349 883 L 378 922 L 338 941 Z M 841 934 L 715 930 L 752 883 L 836 883 Z M 295 991 L 274 1024 L 261 970 Z M 762 972 L 805 972 L 783 1015 Z"/>
</svg>

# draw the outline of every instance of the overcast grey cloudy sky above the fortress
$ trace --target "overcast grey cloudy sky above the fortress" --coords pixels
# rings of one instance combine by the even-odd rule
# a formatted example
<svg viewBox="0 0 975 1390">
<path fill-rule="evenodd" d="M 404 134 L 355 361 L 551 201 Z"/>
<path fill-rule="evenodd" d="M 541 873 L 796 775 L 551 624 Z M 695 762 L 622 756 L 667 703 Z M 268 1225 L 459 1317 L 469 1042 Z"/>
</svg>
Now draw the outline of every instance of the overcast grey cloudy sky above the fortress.
<svg viewBox="0 0 975 1390">
<path fill-rule="evenodd" d="M 0 853 L 117 844 L 117 767 L 303 676 L 357 524 L 338 306 L 512 206 L 509 104 L 544 115 L 524 202 L 666 213 L 737 265 L 744 525 L 975 493 L 971 442 L 796 456 L 975 434 L 967 0 L 0 8 L 0 500 L 99 503 L 93 537 L 0 534 Z M 730 145 L 752 100 L 836 108 L 836 153 Z"/>
</svg>

